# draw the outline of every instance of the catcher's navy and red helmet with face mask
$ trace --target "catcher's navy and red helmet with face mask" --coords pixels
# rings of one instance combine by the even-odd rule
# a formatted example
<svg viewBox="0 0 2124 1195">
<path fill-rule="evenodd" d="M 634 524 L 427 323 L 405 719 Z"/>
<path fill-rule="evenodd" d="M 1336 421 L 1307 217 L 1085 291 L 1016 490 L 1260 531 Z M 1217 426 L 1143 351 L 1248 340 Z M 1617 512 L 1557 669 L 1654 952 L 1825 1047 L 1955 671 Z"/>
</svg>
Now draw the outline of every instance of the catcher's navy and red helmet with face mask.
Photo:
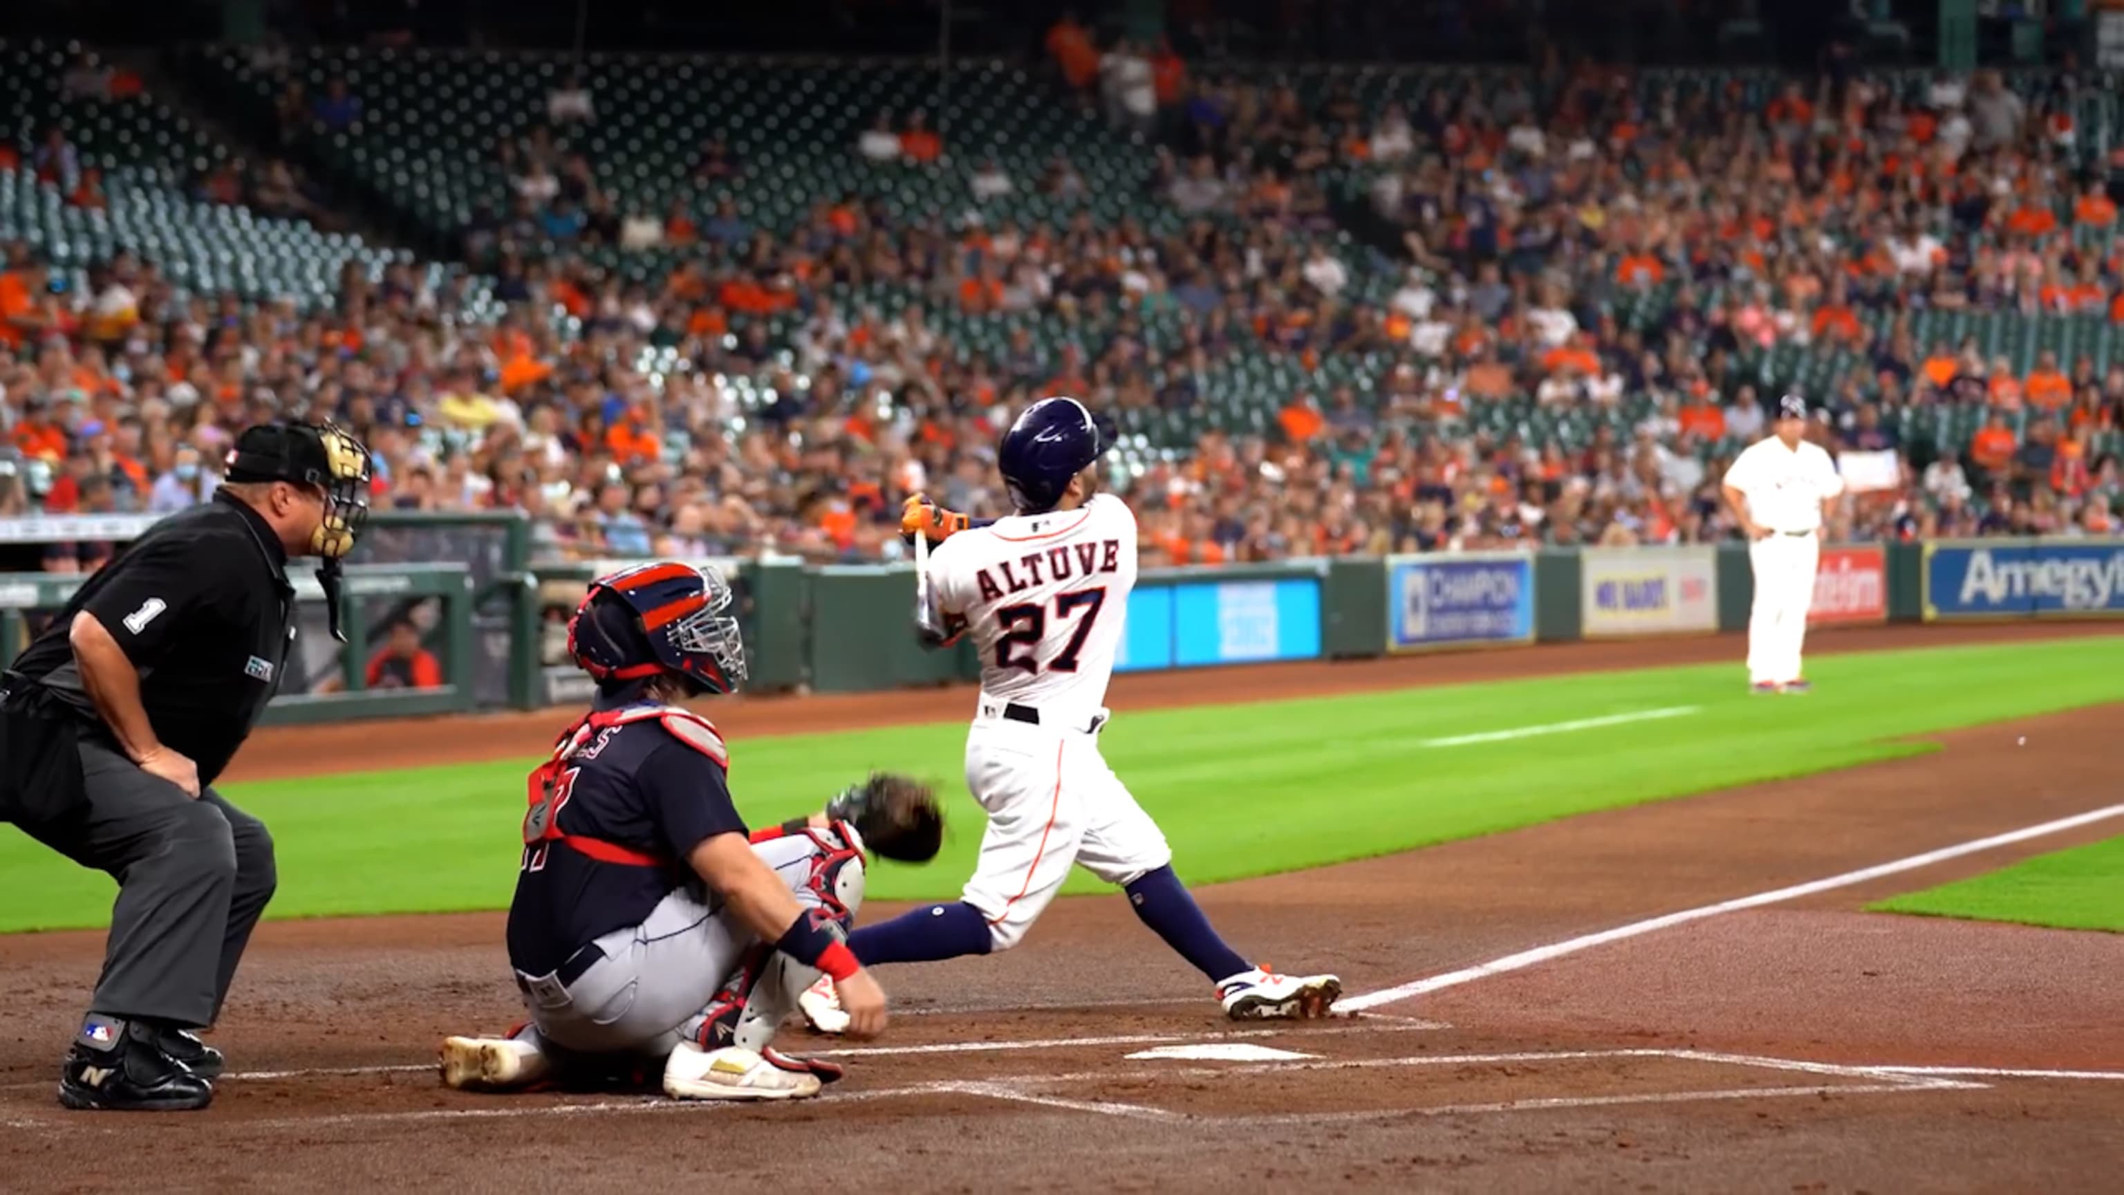
<svg viewBox="0 0 2124 1195">
<path fill-rule="evenodd" d="M 567 623 L 567 655 L 599 685 L 678 676 L 692 693 L 746 678 L 731 587 L 714 568 L 675 559 L 599 576 Z"/>
</svg>

